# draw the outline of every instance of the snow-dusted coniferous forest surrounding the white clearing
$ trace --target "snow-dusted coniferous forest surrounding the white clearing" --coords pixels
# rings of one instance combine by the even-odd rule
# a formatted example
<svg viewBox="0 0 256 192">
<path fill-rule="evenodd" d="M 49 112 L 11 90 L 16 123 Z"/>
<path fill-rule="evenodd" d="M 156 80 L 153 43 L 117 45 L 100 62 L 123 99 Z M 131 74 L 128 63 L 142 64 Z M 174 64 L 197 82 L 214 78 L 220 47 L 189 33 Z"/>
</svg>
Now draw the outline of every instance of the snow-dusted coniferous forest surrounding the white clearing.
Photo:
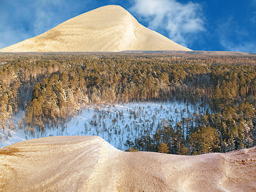
<svg viewBox="0 0 256 192">
<path fill-rule="evenodd" d="M 208 106 L 128 150 L 195 155 L 256 145 L 256 54 L 234 52 L 1 53 L 1 136 L 19 110 L 19 129 L 44 132 L 88 106 L 177 100 Z M 211 111 L 211 112 L 209 112 Z"/>
</svg>

